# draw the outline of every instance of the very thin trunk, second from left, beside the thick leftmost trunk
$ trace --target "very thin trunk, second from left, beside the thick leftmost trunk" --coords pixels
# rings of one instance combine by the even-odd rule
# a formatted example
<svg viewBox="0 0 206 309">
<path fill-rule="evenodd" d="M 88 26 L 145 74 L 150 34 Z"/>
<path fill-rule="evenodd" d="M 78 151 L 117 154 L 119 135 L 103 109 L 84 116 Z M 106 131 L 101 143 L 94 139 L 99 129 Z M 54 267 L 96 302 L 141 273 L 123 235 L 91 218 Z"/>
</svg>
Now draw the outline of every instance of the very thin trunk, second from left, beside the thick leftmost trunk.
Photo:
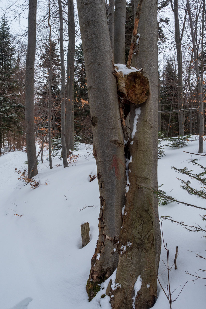
<svg viewBox="0 0 206 309">
<path fill-rule="evenodd" d="M 50 169 L 53 168 L 52 166 L 52 155 L 51 155 L 51 86 L 52 86 L 52 58 L 51 58 L 51 25 L 50 25 L 50 0 L 49 0 L 49 18 L 48 18 L 48 25 L 49 25 L 49 95 L 48 95 L 48 138 L 49 138 L 49 167 Z M 42 145 L 43 148 L 43 145 Z"/>
</svg>

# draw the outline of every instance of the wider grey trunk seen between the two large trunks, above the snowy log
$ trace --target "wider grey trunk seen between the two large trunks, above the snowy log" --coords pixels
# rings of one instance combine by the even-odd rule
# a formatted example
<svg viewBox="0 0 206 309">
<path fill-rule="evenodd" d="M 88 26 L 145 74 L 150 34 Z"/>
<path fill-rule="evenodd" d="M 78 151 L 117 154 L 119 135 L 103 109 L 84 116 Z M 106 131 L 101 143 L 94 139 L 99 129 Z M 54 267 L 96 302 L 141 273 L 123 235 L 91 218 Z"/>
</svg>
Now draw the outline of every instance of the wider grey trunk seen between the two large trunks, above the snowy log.
<svg viewBox="0 0 206 309">
<path fill-rule="evenodd" d="M 115 0 L 114 7 L 114 63 L 125 64 L 126 0 Z"/>
</svg>

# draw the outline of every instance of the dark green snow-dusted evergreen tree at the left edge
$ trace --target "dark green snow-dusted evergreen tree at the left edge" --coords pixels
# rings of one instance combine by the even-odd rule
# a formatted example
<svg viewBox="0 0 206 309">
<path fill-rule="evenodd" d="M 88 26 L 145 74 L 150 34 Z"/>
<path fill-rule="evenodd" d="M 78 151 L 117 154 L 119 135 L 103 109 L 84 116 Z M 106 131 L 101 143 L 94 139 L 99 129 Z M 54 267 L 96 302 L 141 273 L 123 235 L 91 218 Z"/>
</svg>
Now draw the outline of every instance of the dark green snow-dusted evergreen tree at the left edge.
<svg viewBox="0 0 206 309">
<path fill-rule="evenodd" d="M 19 102 L 22 94 L 22 85 L 18 81 L 20 59 L 15 58 L 15 48 L 12 46 L 10 26 L 4 14 L 0 21 L 0 151 L 3 136 L 8 140 L 9 132 L 13 132 L 13 147 L 16 136 L 21 134 L 21 120 L 23 119 L 24 106 Z M 21 91 L 19 91 L 21 87 Z M 6 136 L 7 134 L 7 136 Z M 9 146 L 9 145 L 8 145 Z"/>
</svg>

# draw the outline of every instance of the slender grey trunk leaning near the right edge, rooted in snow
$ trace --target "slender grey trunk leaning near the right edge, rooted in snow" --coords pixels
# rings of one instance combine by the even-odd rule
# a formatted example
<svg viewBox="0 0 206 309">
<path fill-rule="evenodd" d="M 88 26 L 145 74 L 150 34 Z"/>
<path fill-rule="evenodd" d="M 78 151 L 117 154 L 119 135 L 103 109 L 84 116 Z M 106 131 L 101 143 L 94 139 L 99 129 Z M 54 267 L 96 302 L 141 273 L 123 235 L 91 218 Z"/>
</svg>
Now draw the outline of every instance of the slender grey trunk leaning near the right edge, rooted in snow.
<svg viewBox="0 0 206 309">
<path fill-rule="evenodd" d="M 199 65 L 198 65 L 198 55 L 197 49 L 195 44 L 195 35 L 193 29 L 193 22 L 191 16 L 191 9 L 190 9 L 190 2 L 187 0 L 187 9 L 188 9 L 188 16 L 190 21 L 190 30 L 191 30 L 191 39 L 192 39 L 192 48 L 194 53 L 194 61 L 195 61 L 195 74 L 197 78 L 197 85 L 198 85 L 198 99 L 199 99 L 199 153 L 203 153 L 203 141 L 204 141 L 204 116 L 203 116 L 203 93 L 202 93 L 202 85 L 201 85 L 201 78 L 199 72 Z"/>
</svg>

